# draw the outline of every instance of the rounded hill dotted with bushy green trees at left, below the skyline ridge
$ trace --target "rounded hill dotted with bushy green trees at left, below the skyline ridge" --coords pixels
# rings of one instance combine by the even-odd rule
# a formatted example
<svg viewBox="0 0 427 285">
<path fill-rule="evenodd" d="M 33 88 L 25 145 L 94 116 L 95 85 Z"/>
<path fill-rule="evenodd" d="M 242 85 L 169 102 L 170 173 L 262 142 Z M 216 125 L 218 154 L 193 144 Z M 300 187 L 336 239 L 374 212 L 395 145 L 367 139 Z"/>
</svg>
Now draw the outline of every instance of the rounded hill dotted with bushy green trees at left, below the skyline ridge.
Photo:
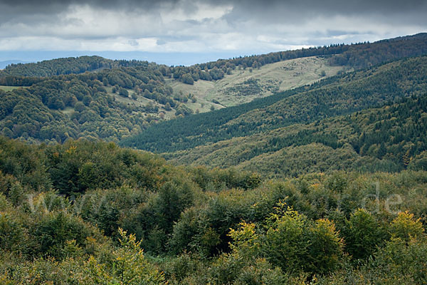
<svg viewBox="0 0 427 285">
<path fill-rule="evenodd" d="M 172 95 L 162 75 L 149 64 L 53 76 L 28 88 L 0 90 L 0 97 L 4 135 L 57 142 L 82 136 L 120 140 L 159 119 L 159 109 L 178 110 L 184 100 Z"/>
</svg>

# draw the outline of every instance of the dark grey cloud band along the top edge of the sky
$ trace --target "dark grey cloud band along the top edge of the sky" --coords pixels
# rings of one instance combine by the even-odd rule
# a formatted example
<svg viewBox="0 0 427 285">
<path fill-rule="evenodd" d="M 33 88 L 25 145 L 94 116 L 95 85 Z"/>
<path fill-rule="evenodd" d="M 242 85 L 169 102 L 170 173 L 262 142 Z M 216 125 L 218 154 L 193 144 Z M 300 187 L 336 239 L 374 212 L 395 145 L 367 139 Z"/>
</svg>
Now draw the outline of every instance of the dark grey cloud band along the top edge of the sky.
<svg viewBox="0 0 427 285">
<path fill-rule="evenodd" d="M 251 11 L 246 16 L 251 17 L 265 12 L 276 11 L 280 14 L 403 14 L 406 12 L 425 12 L 427 5 L 424 0 L 2 0 L 0 4 L 12 9 L 20 9 L 21 13 L 45 12 L 58 13 L 68 9 L 70 5 L 89 5 L 102 9 L 130 9 L 130 10 L 153 10 L 153 9 L 173 9 L 174 6 L 184 3 L 185 7 L 191 11 L 194 9 L 192 3 L 206 3 L 212 6 L 218 4 L 228 4 L 236 11 Z M 18 14 L 19 16 L 19 14 Z M 427 17 L 426 17 L 427 18 Z"/>
</svg>

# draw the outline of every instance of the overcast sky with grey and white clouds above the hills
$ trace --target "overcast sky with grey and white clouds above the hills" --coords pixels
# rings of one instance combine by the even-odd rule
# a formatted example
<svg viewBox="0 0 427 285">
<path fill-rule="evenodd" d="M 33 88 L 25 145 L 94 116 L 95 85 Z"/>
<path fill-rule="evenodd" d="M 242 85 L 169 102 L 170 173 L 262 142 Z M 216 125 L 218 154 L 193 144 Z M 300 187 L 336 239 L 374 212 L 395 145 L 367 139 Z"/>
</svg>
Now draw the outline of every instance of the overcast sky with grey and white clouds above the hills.
<svg viewBox="0 0 427 285">
<path fill-rule="evenodd" d="M 0 61 L 191 64 L 427 31 L 427 0 L 0 0 Z"/>
</svg>

